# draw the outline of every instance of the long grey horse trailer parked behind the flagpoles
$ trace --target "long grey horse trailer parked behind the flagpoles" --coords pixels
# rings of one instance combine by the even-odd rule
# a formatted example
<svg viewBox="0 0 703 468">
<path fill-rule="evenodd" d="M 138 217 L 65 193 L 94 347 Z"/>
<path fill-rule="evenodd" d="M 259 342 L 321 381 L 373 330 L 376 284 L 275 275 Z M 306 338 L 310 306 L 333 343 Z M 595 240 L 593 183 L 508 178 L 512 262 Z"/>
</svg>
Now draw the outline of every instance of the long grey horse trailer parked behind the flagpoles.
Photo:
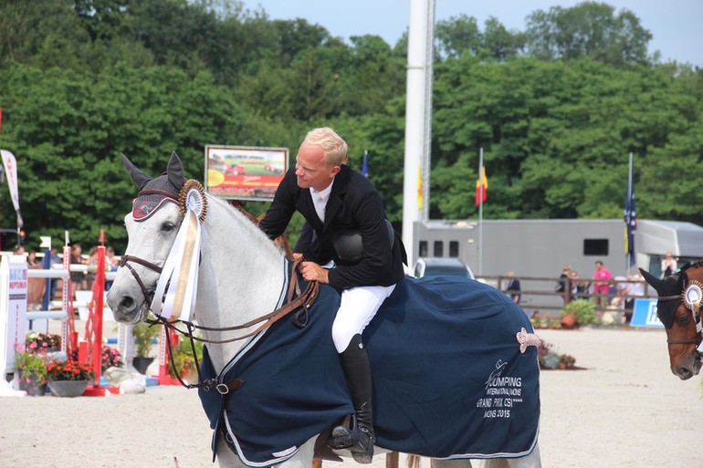
<svg viewBox="0 0 703 468">
<path fill-rule="evenodd" d="M 571 265 L 582 278 L 593 276 L 600 260 L 613 276 L 627 276 L 622 219 L 516 219 L 418 221 L 414 224 L 419 256 L 457 257 L 477 277 L 558 277 Z M 635 265 L 660 276 L 670 251 L 678 266 L 703 259 L 703 227 L 678 221 L 638 220 Z"/>
</svg>

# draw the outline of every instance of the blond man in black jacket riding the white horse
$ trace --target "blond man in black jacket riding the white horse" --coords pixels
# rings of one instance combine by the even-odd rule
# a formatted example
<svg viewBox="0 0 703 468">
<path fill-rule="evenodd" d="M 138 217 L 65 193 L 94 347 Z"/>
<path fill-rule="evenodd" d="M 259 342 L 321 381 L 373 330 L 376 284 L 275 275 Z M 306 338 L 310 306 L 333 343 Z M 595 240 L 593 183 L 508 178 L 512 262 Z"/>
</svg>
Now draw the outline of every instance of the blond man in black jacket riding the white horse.
<svg viewBox="0 0 703 468">
<path fill-rule="evenodd" d="M 341 305 L 332 323 L 332 341 L 352 395 L 351 427 L 337 426 L 328 439 L 333 449 L 349 448 L 358 463 L 371 463 L 373 411 L 371 366 L 362 344 L 371 322 L 395 284 L 404 277 L 403 243 L 389 235 L 381 198 L 369 180 L 343 164 L 347 144 L 330 128 L 310 132 L 300 145 L 295 167 L 278 185 L 259 227 L 275 239 L 298 211 L 316 240 L 301 252 L 300 274 L 341 290 Z M 358 232 L 362 253 L 342 253 L 339 234 Z M 344 260 L 356 258 L 355 260 Z M 323 267 L 334 265 L 331 268 Z"/>
</svg>

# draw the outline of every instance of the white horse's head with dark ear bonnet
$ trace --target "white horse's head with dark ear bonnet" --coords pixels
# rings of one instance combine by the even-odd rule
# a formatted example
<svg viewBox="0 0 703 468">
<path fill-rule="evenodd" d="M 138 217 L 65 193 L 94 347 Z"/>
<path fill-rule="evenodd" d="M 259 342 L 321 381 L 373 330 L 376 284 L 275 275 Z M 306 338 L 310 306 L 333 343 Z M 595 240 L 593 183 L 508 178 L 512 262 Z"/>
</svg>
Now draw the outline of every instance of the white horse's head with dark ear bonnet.
<svg viewBox="0 0 703 468">
<path fill-rule="evenodd" d="M 115 320 L 135 324 L 148 315 L 161 267 L 181 224 L 178 196 L 185 183 L 183 163 L 175 152 L 167 171 L 152 179 L 122 154 L 122 162 L 139 194 L 125 216 L 129 236 L 121 268 L 108 292 Z"/>
</svg>

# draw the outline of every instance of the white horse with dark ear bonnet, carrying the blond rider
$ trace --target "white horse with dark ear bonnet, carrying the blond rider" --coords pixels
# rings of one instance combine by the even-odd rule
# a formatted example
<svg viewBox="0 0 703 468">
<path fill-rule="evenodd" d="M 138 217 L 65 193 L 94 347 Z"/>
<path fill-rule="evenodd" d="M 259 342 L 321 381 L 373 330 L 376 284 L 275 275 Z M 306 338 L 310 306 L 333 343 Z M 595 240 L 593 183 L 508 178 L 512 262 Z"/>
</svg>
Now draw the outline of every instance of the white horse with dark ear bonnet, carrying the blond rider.
<svg viewBox="0 0 703 468">
<path fill-rule="evenodd" d="M 183 221 L 183 209 L 170 203 L 185 179 L 181 161 L 173 153 L 166 174 L 151 179 L 123 157 L 141 195 L 135 201 L 134 211 L 125 217 L 129 244 L 123 262 L 108 293 L 107 300 L 115 319 L 125 324 L 136 324 L 147 318 L 149 301 L 160 279 L 159 268 L 170 255 L 176 234 Z M 163 197 L 163 193 L 170 196 Z M 159 199 L 162 200 L 159 200 Z M 164 202 L 165 200 L 165 202 Z M 232 327 L 247 324 L 278 307 L 281 286 L 284 284 L 286 258 L 283 251 L 269 241 L 255 224 L 231 205 L 215 197 L 205 196 L 207 213 L 202 224 L 199 254 L 197 300 L 192 319 L 208 328 Z M 135 220 L 135 217 L 139 221 Z M 251 328 L 239 330 L 246 333 Z M 206 340 L 226 340 L 237 332 L 203 332 Z M 216 372 L 223 369 L 243 346 L 243 341 L 205 346 Z M 335 421 L 330 421 L 332 425 Z M 205 428 L 204 428 L 205 430 Z M 221 436 L 219 436 L 222 439 Z M 282 468 L 310 468 L 316 437 L 310 438 L 285 462 Z M 380 452 L 388 452 L 383 448 Z M 338 451 L 349 456 L 348 451 Z M 377 452 L 378 453 L 378 452 Z M 220 467 L 246 465 L 226 443 L 217 444 Z M 512 468 L 540 467 L 537 445 L 527 456 L 474 460 L 480 466 L 509 466 Z M 468 468 L 468 459 L 436 459 L 435 468 Z"/>
</svg>

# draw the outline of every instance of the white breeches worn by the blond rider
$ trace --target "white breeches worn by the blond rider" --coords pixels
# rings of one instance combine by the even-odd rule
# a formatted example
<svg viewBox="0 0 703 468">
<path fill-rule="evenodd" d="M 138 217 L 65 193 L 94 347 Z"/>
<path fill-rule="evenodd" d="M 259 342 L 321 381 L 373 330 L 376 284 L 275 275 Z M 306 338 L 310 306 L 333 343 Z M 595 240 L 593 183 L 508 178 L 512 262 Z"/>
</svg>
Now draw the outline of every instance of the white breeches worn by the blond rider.
<svg viewBox="0 0 703 468">
<path fill-rule="evenodd" d="M 337 352 L 349 346 L 352 337 L 361 334 L 371 322 L 393 286 L 358 286 L 341 292 L 341 305 L 332 323 L 332 341 Z"/>
</svg>

